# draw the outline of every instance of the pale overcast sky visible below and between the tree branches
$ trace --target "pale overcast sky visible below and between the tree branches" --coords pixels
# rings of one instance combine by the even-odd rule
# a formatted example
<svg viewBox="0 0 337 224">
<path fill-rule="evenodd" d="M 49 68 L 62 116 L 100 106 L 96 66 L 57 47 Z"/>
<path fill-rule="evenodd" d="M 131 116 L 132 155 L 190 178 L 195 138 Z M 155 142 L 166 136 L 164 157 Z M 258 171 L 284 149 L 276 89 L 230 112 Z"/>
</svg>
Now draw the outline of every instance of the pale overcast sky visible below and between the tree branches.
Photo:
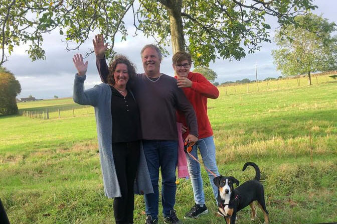
<svg viewBox="0 0 337 224">
<path fill-rule="evenodd" d="M 313 11 L 314 14 L 322 15 L 328 19 L 329 22 L 335 22 L 337 24 L 337 1 L 336 0 L 314 0 L 313 4 L 318 6 L 318 9 Z M 269 22 L 269 21 L 267 21 Z M 271 21 L 271 24 L 275 24 Z M 270 30 L 271 39 L 273 38 L 274 29 Z M 138 35 L 132 37 L 134 33 L 132 24 L 130 24 L 130 32 L 127 41 L 115 42 L 114 50 L 117 53 L 122 53 L 128 56 L 128 58 L 136 64 L 137 72 L 143 72 L 143 67 L 140 59 L 140 50 L 142 46 L 149 43 L 154 43 L 152 39 L 147 39 Z M 94 34 L 92 34 L 94 35 Z M 4 67 L 9 69 L 15 74 L 16 78 L 21 84 L 20 97 L 28 97 L 33 95 L 36 98 L 50 99 L 54 95 L 59 97 L 69 97 L 73 91 L 73 81 L 76 69 L 72 62 L 72 57 L 75 53 L 85 52 L 92 47 L 92 38 L 88 39 L 83 44 L 79 51 L 67 52 L 65 50 L 66 44 L 61 41 L 62 37 L 58 32 L 44 36 L 43 49 L 46 52 L 46 60 L 39 60 L 32 62 L 28 57 L 25 50 L 25 46 L 16 47 L 9 60 L 3 64 Z M 278 77 L 280 72 L 276 71 L 273 64 L 273 58 L 271 51 L 277 49 L 277 46 L 273 43 L 264 43 L 260 51 L 248 55 L 241 61 L 229 61 L 218 59 L 215 63 L 210 63 L 210 68 L 218 74 L 219 83 L 225 81 L 236 81 L 243 78 L 250 80 L 255 79 L 255 65 L 257 65 L 258 79 L 263 80 L 267 77 Z M 160 71 L 167 75 L 173 76 L 172 69 L 172 49 L 167 49 L 170 55 L 163 58 Z M 85 88 L 90 88 L 95 84 L 100 83 L 100 79 L 95 66 L 95 57 L 91 55 L 87 58 L 89 61 L 87 79 L 85 82 Z M 193 67 L 191 68 L 193 70 Z"/>
</svg>

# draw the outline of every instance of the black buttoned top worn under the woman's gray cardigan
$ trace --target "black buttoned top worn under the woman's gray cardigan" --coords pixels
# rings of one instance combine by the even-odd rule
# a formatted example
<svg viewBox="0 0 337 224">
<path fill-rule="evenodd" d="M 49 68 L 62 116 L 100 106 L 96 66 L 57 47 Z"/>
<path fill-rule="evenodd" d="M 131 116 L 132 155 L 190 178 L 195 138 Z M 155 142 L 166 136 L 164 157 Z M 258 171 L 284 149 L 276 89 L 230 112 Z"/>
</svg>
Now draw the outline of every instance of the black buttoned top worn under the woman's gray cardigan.
<svg viewBox="0 0 337 224">
<path fill-rule="evenodd" d="M 111 86 L 112 142 L 132 142 L 141 139 L 139 110 L 128 91 L 124 97 Z"/>
</svg>

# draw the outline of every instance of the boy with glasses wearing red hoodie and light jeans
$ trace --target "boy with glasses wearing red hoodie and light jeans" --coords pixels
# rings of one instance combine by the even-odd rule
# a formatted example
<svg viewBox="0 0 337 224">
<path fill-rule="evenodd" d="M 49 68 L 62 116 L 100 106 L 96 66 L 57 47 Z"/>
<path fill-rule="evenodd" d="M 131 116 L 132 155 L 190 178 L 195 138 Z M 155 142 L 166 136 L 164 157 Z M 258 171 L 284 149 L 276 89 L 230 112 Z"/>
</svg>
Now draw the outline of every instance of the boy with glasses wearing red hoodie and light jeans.
<svg viewBox="0 0 337 224">
<path fill-rule="evenodd" d="M 191 154 L 198 158 L 197 148 L 199 148 L 204 165 L 216 176 L 219 176 L 218 167 L 215 160 L 215 144 L 213 141 L 213 131 L 207 116 L 207 98 L 216 99 L 219 96 L 219 90 L 212 85 L 202 74 L 190 72 L 192 65 L 191 55 L 184 51 L 177 52 L 173 58 L 173 69 L 177 85 L 184 90 L 186 97 L 196 111 L 198 120 L 199 140 L 193 146 Z M 184 137 L 190 134 L 190 129 L 186 126 L 184 116 L 178 111 L 178 122 L 183 124 L 182 132 Z M 205 205 L 205 195 L 203 189 L 203 180 L 201 178 L 200 164 L 186 154 L 189 174 L 191 176 L 192 188 L 194 193 L 195 205 L 187 212 L 184 218 L 196 218 L 199 215 L 208 213 Z M 213 179 L 214 175 L 208 172 L 209 180 L 213 189 L 215 198 L 217 198 L 218 189 Z"/>
</svg>

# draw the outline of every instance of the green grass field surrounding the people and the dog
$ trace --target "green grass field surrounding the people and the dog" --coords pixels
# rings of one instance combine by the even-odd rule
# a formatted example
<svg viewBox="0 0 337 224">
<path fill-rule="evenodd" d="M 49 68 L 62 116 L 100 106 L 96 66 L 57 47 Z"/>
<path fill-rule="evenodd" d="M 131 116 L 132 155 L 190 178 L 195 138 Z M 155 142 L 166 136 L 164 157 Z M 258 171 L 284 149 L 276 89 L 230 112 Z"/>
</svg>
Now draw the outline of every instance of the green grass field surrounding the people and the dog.
<svg viewBox="0 0 337 224">
<path fill-rule="evenodd" d="M 209 100 L 220 173 L 244 182 L 254 171 L 242 172 L 243 164 L 256 162 L 271 223 L 337 221 L 337 82 L 283 84 L 248 93 L 220 87 L 219 98 Z M 58 99 L 18 106 L 72 104 L 72 99 Z M 62 111 L 69 116 L 49 120 L 0 117 L 0 198 L 11 223 L 114 223 L 113 200 L 103 191 L 93 108 L 68 108 Z M 217 208 L 205 170 L 202 175 L 210 213 L 184 223 L 225 223 L 214 216 Z M 191 182 L 180 179 L 178 216 L 183 219 L 193 204 Z M 135 223 L 144 222 L 144 207 L 137 195 Z M 259 209 L 254 221 L 249 212 L 240 211 L 238 223 L 263 222 Z"/>
</svg>

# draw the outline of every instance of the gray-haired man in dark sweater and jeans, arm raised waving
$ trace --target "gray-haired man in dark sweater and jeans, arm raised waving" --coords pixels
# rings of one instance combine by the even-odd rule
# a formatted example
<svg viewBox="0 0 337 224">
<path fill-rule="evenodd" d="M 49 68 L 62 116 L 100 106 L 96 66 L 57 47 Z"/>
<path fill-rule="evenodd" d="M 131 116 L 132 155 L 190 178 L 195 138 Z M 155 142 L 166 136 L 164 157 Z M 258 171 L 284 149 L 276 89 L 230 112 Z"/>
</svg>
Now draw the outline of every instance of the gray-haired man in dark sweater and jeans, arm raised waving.
<svg viewBox="0 0 337 224">
<path fill-rule="evenodd" d="M 96 64 L 103 82 L 107 82 L 108 67 L 105 61 L 107 45 L 103 36 L 95 37 Z M 190 133 L 186 141 L 198 140 L 197 119 L 191 103 L 178 88 L 173 77 L 160 73 L 161 52 L 155 45 L 146 45 L 140 52 L 144 73 L 130 82 L 139 107 L 143 148 L 153 186 L 153 194 L 145 194 L 147 224 L 158 220 L 158 179 L 161 168 L 161 201 L 165 223 L 181 223 L 174 210 L 176 202 L 176 167 L 178 134 L 176 110 L 186 116 Z"/>
</svg>

